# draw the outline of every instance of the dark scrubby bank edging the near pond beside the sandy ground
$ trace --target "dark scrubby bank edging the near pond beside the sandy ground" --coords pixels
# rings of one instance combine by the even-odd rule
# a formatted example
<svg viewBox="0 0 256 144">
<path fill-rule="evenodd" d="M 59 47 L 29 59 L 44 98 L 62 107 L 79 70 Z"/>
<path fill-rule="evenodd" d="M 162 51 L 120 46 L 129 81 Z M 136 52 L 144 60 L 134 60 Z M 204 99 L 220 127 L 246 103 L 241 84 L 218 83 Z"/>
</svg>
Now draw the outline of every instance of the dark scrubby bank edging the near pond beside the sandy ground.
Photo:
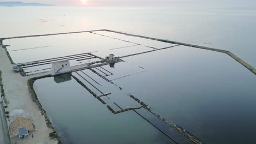
<svg viewBox="0 0 256 144">
<path fill-rule="evenodd" d="M 59 74 L 61 75 L 61 74 Z M 53 132 L 49 134 L 49 137 L 51 139 L 56 139 L 58 141 L 58 144 L 62 144 L 59 134 L 57 134 L 57 131 L 54 130 L 53 125 L 51 124 L 48 116 L 46 115 L 46 111 L 43 109 L 43 106 L 40 104 L 40 101 L 38 100 L 37 93 L 34 91 L 34 82 L 39 79 L 44 79 L 46 77 L 53 77 L 52 75 L 45 75 L 45 76 L 39 76 L 39 77 L 33 77 L 27 81 L 28 91 L 31 93 L 32 100 L 34 103 L 38 105 L 38 109 L 41 111 L 41 114 L 44 115 L 44 119 L 46 122 L 46 125 L 48 128 L 53 129 Z"/>
</svg>

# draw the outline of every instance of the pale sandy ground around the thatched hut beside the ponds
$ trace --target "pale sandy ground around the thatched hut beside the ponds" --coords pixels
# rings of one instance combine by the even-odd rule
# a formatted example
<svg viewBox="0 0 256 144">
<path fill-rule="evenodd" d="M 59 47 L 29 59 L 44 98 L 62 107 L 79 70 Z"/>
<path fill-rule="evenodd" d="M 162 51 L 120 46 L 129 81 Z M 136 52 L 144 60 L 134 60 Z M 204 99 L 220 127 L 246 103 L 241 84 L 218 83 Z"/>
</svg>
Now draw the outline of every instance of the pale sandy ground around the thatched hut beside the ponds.
<svg viewBox="0 0 256 144">
<path fill-rule="evenodd" d="M 19 141 L 18 136 L 15 139 L 11 139 L 11 142 L 14 143 L 57 143 L 56 140 L 51 140 L 49 138 L 49 133 L 53 130 L 46 126 L 44 116 L 41 115 L 37 104 L 35 104 L 31 99 L 31 94 L 28 91 L 27 81 L 30 79 L 30 76 L 21 76 L 20 73 L 15 73 L 12 70 L 13 65 L 10 63 L 9 58 L 3 49 L 0 46 L 0 70 L 2 71 L 2 79 L 5 91 L 5 97 L 8 101 L 7 109 L 5 111 L 13 110 L 24 110 L 26 113 L 29 113 L 33 117 L 34 125 L 36 126 L 37 131 L 34 131 L 32 134 L 34 138 L 30 136 L 24 140 Z M 33 76 L 34 77 L 34 76 Z M 4 104 L 6 105 L 6 104 Z M 9 121 L 8 125 L 10 124 Z"/>
</svg>

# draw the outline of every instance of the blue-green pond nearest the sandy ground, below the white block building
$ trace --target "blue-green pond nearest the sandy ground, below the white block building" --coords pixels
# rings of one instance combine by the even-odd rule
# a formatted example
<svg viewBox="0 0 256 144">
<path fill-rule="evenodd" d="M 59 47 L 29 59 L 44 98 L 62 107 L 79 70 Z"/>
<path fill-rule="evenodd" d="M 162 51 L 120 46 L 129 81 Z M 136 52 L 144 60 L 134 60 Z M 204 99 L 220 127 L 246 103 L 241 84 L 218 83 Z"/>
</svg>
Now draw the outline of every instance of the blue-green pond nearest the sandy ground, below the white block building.
<svg viewBox="0 0 256 144">
<path fill-rule="evenodd" d="M 68 142 L 173 143 L 166 136 L 159 139 L 162 134 L 133 112 L 114 115 L 73 79 L 56 83 L 45 78 L 34 85 L 56 130 Z"/>
</svg>

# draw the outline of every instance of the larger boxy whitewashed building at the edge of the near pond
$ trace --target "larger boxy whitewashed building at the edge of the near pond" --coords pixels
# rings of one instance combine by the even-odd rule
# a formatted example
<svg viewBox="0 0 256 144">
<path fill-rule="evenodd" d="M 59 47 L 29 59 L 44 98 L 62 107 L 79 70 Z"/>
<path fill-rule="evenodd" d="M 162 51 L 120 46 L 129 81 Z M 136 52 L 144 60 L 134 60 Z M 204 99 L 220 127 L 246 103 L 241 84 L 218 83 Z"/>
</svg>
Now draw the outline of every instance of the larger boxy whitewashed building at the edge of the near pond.
<svg viewBox="0 0 256 144">
<path fill-rule="evenodd" d="M 53 65 L 54 74 L 60 74 L 70 71 L 70 63 L 68 61 L 59 61 L 51 63 Z"/>
</svg>

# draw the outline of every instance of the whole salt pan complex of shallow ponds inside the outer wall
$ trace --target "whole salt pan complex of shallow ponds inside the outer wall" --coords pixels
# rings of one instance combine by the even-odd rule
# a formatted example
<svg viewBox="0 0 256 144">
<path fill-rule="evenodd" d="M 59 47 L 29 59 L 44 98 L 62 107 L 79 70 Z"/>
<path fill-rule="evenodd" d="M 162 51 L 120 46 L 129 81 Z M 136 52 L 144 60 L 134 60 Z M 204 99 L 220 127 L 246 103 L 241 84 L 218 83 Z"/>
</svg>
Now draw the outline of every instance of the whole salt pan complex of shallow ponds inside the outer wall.
<svg viewBox="0 0 256 144">
<path fill-rule="evenodd" d="M 61 43 L 63 39 L 66 41 Z M 56 44 L 39 46 L 42 40 Z M 83 135 L 90 135 L 89 143 L 228 143 L 234 140 L 232 132 L 242 119 L 249 123 L 256 119 L 251 109 L 256 101 L 251 97 L 256 86 L 254 69 L 249 71 L 246 62 L 238 63 L 225 50 L 164 41 L 101 30 L 10 38 L 3 44 L 10 61 L 23 65 L 22 70 L 31 73 L 30 76 L 53 70 L 51 62 L 59 63 L 63 59 L 70 61 L 72 67 L 88 65 L 65 75 L 49 77 L 45 73 L 47 78 L 36 80 L 35 77 L 38 101 L 48 112 L 52 127 L 63 143 L 84 142 Z M 31 48 L 20 47 L 21 43 Z M 14 45 L 7 47 L 7 44 Z M 69 48 L 75 44 L 80 45 Z M 57 57 L 54 53 L 41 55 L 50 49 L 58 53 Z M 27 59 L 19 56 L 22 52 Z M 112 57 L 121 58 L 120 61 L 90 68 L 91 63 L 109 61 L 104 56 L 110 52 L 114 53 Z M 65 109 L 67 105 L 69 109 Z M 254 124 L 241 127 L 240 130 L 248 133 L 236 137 L 235 141 L 241 143 L 252 137 L 248 139 L 250 143 L 253 140 L 250 131 L 254 129 Z M 101 139 L 97 139 L 99 132 L 104 135 Z M 140 136 L 136 137 L 137 134 Z M 147 139 L 149 135 L 152 136 Z"/>
</svg>

